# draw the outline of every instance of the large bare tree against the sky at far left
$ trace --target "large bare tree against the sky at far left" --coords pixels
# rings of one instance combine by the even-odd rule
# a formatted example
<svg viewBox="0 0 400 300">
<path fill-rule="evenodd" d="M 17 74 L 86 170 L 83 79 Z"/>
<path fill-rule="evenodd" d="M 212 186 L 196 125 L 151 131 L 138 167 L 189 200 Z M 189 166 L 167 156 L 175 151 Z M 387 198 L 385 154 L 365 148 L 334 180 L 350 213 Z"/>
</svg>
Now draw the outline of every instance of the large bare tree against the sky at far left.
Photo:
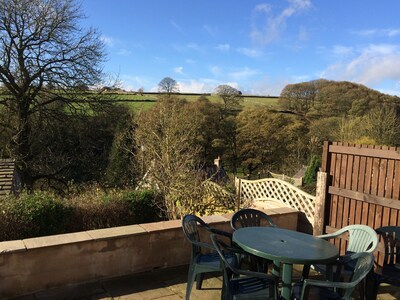
<svg viewBox="0 0 400 300">
<path fill-rule="evenodd" d="M 9 95 L 0 109 L 13 116 L 11 155 L 27 187 L 32 122 L 54 116 L 56 103 L 74 100 L 76 86 L 102 76 L 104 46 L 98 32 L 79 27 L 83 17 L 73 0 L 0 0 L 0 82 Z"/>
</svg>

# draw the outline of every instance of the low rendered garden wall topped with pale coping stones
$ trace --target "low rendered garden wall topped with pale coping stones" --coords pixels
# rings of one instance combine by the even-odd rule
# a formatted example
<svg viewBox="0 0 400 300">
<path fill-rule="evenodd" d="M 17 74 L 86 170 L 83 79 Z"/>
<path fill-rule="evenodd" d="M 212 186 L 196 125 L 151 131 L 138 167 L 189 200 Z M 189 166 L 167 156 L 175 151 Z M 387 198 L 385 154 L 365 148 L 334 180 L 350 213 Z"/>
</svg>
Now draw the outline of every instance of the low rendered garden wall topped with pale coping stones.
<svg viewBox="0 0 400 300">
<path fill-rule="evenodd" d="M 278 226 L 297 229 L 297 211 L 266 212 Z M 230 231 L 230 217 L 203 219 Z M 1 242 L 0 298 L 185 265 L 189 259 L 180 220 Z"/>
</svg>

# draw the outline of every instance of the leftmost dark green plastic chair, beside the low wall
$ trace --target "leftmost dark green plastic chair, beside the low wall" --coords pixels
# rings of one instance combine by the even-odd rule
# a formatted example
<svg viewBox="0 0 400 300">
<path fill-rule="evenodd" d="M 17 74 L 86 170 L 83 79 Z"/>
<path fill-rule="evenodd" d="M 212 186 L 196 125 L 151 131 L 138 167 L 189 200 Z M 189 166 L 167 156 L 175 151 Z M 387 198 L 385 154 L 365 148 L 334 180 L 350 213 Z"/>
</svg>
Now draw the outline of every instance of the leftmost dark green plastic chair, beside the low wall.
<svg viewBox="0 0 400 300">
<path fill-rule="evenodd" d="M 232 238 L 232 234 L 212 228 L 195 215 L 186 215 L 183 217 L 182 229 L 186 239 L 192 245 L 192 254 L 186 287 L 186 300 L 188 300 L 190 299 L 190 293 L 195 280 L 196 288 L 201 289 L 204 273 L 223 271 L 223 266 L 215 247 L 210 243 L 200 240 L 200 230 L 204 229 L 210 234 L 222 235 L 228 239 Z M 205 249 L 208 251 L 204 251 Z M 227 261 L 235 261 L 236 257 L 234 254 L 229 254 L 226 259 Z"/>
</svg>

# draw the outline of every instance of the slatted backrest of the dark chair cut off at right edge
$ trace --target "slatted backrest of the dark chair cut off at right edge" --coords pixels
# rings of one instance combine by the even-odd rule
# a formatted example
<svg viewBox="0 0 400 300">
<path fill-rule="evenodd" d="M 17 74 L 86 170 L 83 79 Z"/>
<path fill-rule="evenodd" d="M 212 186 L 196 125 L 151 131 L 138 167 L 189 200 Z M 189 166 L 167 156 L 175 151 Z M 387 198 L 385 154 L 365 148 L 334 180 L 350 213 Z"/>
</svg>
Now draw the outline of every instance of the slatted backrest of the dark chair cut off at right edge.
<svg viewBox="0 0 400 300">
<path fill-rule="evenodd" d="M 400 273 L 400 227 L 384 226 L 376 229 L 376 232 L 382 236 L 385 244 L 385 265 L 396 266 Z"/>
</svg>

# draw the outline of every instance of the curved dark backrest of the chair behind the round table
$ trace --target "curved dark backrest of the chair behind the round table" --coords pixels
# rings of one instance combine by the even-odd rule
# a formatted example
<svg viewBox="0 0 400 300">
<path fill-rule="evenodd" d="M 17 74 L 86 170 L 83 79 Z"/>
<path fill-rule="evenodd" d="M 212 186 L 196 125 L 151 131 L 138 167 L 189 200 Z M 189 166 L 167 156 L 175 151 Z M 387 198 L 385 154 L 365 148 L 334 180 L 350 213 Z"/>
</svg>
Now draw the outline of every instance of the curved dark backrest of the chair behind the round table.
<svg viewBox="0 0 400 300">
<path fill-rule="evenodd" d="M 266 213 L 253 209 L 245 208 L 237 211 L 231 218 L 231 227 L 236 230 L 242 227 L 262 226 L 261 221 L 265 220 L 267 225 L 276 227 L 274 221 Z"/>
</svg>

